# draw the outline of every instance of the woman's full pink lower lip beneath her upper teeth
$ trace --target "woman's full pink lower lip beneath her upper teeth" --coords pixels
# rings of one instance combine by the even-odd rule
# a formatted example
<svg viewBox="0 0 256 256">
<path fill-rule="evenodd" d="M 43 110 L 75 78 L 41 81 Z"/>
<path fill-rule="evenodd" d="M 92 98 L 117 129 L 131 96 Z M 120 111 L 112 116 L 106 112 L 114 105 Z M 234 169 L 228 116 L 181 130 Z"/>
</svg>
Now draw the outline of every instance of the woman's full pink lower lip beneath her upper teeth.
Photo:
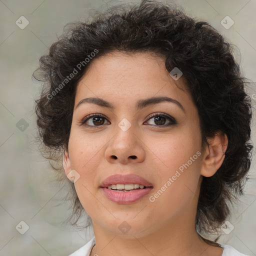
<svg viewBox="0 0 256 256">
<path fill-rule="evenodd" d="M 117 203 L 121 204 L 127 204 L 127 203 L 133 203 L 139 199 L 141 199 L 143 196 L 148 194 L 153 187 L 147 187 L 142 189 L 136 189 L 129 192 L 116 192 L 112 189 L 109 189 L 107 187 L 101 187 L 103 189 L 103 192 L 105 196 Z"/>
</svg>

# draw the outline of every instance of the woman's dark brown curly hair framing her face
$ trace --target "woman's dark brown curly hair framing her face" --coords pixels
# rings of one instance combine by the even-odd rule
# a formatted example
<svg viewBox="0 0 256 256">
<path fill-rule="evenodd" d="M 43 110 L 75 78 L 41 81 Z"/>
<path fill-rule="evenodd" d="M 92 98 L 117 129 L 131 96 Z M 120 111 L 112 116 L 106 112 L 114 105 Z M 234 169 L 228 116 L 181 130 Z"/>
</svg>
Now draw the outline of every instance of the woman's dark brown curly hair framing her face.
<svg viewBox="0 0 256 256">
<path fill-rule="evenodd" d="M 248 142 L 252 113 L 244 91 L 246 79 L 240 75 L 232 45 L 209 23 L 188 17 L 174 3 L 146 0 L 97 11 L 90 21 L 68 23 L 32 75 L 44 82 L 35 100 L 37 138 L 43 156 L 58 171 L 58 180 L 72 191 L 71 217 L 76 219 L 71 224 L 84 210 L 62 167 L 76 85 L 94 59 L 116 50 L 155 54 L 164 59 L 168 71 L 174 67 L 182 71 L 198 109 L 202 148 L 216 132 L 227 135 L 222 165 L 213 176 L 203 176 L 196 212 L 197 232 L 215 232 L 230 214 L 229 202 L 243 194 L 248 179 L 253 146 Z"/>
</svg>

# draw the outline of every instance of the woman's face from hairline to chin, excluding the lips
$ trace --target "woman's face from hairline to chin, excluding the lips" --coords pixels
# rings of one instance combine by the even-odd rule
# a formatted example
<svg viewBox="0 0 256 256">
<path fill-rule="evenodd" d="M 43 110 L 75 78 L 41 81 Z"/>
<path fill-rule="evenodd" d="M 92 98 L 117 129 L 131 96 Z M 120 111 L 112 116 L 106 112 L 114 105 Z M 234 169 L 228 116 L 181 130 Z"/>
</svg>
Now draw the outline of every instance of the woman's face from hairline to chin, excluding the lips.
<svg viewBox="0 0 256 256">
<path fill-rule="evenodd" d="M 88 97 L 103 99 L 113 108 L 92 102 L 77 106 Z M 174 100 L 136 107 L 151 97 Z M 93 226 L 122 235 L 120 225 L 126 221 L 127 234 L 138 237 L 178 222 L 181 216 L 193 219 L 200 155 L 197 108 L 183 77 L 175 81 L 163 59 L 113 52 L 93 60 L 77 85 L 64 160 L 66 174 L 71 169 L 79 174 L 75 189 Z M 134 202 L 112 201 L 100 185 L 113 174 L 137 174 L 152 188 Z"/>
</svg>

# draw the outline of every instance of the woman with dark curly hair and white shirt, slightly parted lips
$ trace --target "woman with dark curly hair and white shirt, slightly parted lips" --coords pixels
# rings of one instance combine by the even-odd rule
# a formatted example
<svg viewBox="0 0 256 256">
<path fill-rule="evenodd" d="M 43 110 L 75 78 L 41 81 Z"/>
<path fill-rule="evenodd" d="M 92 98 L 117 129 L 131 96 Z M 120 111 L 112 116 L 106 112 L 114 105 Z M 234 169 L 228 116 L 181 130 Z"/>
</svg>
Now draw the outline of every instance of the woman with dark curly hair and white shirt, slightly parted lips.
<svg viewBox="0 0 256 256">
<path fill-rule="evenodd" d="M 72 256 L 244 255 L 203 237 L 230 227 L 252 149 L 245 79 L 214 28 L 171 4 L 114 7 L 72 23 L 39 71 L 39 137 L 63 156 L 72 224 L 84 209 L 94 231 Z"/>
</svg>

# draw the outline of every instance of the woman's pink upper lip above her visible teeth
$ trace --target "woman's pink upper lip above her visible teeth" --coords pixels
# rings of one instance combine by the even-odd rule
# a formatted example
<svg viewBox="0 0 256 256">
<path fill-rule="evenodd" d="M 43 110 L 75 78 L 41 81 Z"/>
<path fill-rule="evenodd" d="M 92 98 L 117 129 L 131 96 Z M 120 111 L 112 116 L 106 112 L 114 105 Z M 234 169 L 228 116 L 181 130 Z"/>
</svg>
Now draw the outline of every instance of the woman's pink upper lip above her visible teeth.
<svg viewBox="0 0 256 256">
<path fill-rule="evenodd" d="M 146 179 L 136 174 L 114 174 L 105 178 L 100 187 L 107 187 L 111 184 L 140 184 L 143 186 L 152 186 Z"/>
</svg>

